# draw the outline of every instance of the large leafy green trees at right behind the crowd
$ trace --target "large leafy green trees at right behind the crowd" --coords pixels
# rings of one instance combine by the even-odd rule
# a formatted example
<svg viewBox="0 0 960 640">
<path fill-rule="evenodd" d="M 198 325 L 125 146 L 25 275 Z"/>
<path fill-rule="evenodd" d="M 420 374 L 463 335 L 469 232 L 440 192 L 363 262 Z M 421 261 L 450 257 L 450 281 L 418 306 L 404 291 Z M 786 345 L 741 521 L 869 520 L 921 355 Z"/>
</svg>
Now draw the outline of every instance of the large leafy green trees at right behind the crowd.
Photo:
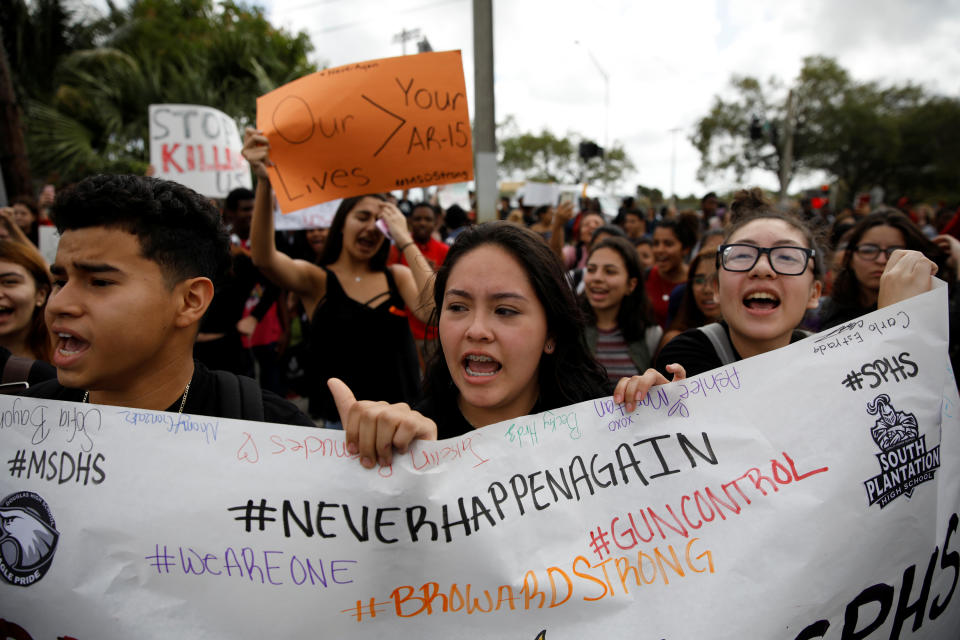
<svg viewBox="0 0 960 640">
<path fill-rule="evenodd" d="M 715 97 L 691 136 L 700 152 L 701 180 L 724 174 L 742 180 L 748 169 L 766 170 L 777 176 L 784 194 L 798 174 L 822 170 L 850 193 L 873 185 L 913 197 L 958 191 L 956 99 L 930 96 L 913 85 L 857 82 L 824 57 L 804 59 L 789 89 L 776 79 L 761 83 L 742 76 L 734 76 L 731 86 L 732 97 Z M 791 129 L 792 164 L 785 167 Z"/>
</svg>

